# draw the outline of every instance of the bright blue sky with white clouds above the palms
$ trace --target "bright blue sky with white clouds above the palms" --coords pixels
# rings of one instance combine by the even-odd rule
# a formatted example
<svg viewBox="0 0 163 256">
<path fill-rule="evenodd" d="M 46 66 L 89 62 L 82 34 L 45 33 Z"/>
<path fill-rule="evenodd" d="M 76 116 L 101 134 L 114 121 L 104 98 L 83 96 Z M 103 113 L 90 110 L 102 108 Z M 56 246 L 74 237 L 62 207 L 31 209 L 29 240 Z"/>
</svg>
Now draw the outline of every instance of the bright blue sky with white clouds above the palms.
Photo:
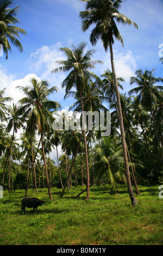
<svg viewBox="0 0 163 256">
<path fill-rule="evenodd" d="M 20 38 L 22 53 L 12 46 L 8 60 L 0 57 L 0 89 L 7 88 L 6 96 L 17 102 L 23 95 L 15 87 L 26 86 L 32 77 L 36 77 L 58 87 L 59 92 L 54 93 L 51 100 L 58 101 L 62 108 L 71 106 L 72 99 L 64 101 L 65 91 L 60 86 L 66 74 L 51 74 L 57 67 L 55 61 L 65 59 L 60 47 L 71 47 L 85 41 L 86 50 L 97 50 L 93 59 L 104 62 L 93 72 L 101 76 L 106 69 L 111 69 L 109 51 L 104 51 L 101 41 L 96 46 L 91 45 L 91 30 L 82 31 L 79 11 L 84 10 L 84 4 L 79 0 L 13 0 L 12 7 L 16 6 L 20 7 L 17 17 L 21 23 L 18 26 L 27 32 L 27 36 L 21 35 Z M 113 46 L 117 76 L 126 80 L 124 92 L 133 88 L 129 80 L 137 69 L 155 68 L 155 76 L 163 77 L 163 65 L 159 61 L 159 45 L 163 44 L 162 11 L 162 0 L 127 0 L 120 10 L 139 25 L 138 30 L 133 26 L 118 25 L 124 47 L 120 42 Z"/>
</svg>

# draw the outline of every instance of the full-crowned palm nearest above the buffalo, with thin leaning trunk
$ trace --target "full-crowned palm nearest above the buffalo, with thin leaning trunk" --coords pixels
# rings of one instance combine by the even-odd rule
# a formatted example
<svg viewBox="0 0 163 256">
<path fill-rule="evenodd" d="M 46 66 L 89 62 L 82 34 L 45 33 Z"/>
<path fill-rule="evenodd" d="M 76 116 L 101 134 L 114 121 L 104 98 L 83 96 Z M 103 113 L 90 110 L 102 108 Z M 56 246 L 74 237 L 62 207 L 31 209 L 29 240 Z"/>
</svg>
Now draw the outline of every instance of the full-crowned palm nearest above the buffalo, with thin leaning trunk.
<svg viewBox="0 0 163 256">
<path fill-rule="evenodd" d="M 51 110 L 57 109 L 60 107 L 60 104 L 56 101 L 48 100 L 48 96 L 53 92 L 57 92 L 56 87 L 49 88 L 47 81 L 42 80 L 38 82 L 35 78 L 31 80 L 31 86 L 22 87 L 19 86 L 26 97 L 23 97 L 20 102 L 26 109 L 26 113 L 23 115 L 24 118 L 28 117 L 27 121 L 27 133 L 33 128 L 34 130 L 37 127 L 41 135 L 42 142 L 42 153 L 43 160 L 45 163 L 46 178 L 47 178 L 47 187 L 49 198 L 52 199 L 51 190 L 49 187 L 45 149 L 43 144 L 43 134 L 44 132 L 49 132 L 49 127 L 53 123 L 53 116 Z"/>
</svg>

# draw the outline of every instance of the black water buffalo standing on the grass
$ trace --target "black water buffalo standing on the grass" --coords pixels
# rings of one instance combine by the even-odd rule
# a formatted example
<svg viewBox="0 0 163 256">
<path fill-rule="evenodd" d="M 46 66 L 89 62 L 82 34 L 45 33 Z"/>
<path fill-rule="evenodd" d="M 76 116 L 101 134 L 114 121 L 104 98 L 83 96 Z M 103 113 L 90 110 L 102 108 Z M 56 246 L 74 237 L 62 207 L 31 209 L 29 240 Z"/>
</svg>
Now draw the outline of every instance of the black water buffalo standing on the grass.
<svg viewBox="0 0 163 256">
<path fill-rule="evenodd" d="M 21 204 L 21 209 L 22 209 L 22 212 L 24 211 L 25 212 L 25 209 L 26 207 L 27 208 L 33 208 L 33 210 L 37 210 L 37 207 L 39 205 L 42 205 L 42 203 L 45 203 L 45 200 L 39 200 L 38 198 L 36 197 L 33 197 L 33 198 L 24 198 L 22 200 L 22 204 Z"/>
</svg>

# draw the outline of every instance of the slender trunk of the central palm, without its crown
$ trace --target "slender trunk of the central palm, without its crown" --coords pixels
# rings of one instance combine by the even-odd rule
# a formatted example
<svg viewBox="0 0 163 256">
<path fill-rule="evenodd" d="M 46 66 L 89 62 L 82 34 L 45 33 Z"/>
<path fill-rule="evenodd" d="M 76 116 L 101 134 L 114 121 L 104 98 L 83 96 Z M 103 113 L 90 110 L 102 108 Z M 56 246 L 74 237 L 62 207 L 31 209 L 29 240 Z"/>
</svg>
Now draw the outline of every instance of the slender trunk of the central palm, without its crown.
<svg viewBox="0 0 163 256">
<path fill-rule="evenodd" d="M 82 122 L 83 122 L 83 129 L 84 129 L 84 147 L 85 147 L 85 162 L 86 162 L 86 199 L 90 198 L 90 173 L 89 173 L 89 161 L 87 157 L 87 144 L 86 144 L 86 132 L 85 132 L 85 120 L 84 120 L 84 107 L 83 107 L 83 96 L 82 96 L 82 88 L 79 86 L 80 91 L 80 100 L 82 106 Z"/>
</svg>

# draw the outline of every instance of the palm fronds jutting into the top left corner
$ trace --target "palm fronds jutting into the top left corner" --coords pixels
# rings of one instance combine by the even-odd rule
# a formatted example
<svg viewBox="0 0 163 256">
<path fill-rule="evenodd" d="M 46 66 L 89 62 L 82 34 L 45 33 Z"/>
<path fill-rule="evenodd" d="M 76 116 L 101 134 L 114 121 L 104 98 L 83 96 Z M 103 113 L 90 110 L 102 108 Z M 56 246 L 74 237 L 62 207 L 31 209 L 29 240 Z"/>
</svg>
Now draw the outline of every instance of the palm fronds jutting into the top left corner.
<svg viewBox="0 0 163 256">
<path fill-rule="evenodd" d="M 1 0 L 0 2 L 0 44 L 3 46 L 6 59 L 8 59 L 8 51 L 11 52 L 10 43 L 22 52 L 23 47 L 18 40 L 20 39 L 19 34 L 27 35 L 24 29 L 15 26 L 15 24 L 20 23 L 16 18 L 20 8 L 15 7 L 14 9 L 11 9 L 9 8 L 11 4 L 12 1 L 10 0 Z"/>
</svg>

